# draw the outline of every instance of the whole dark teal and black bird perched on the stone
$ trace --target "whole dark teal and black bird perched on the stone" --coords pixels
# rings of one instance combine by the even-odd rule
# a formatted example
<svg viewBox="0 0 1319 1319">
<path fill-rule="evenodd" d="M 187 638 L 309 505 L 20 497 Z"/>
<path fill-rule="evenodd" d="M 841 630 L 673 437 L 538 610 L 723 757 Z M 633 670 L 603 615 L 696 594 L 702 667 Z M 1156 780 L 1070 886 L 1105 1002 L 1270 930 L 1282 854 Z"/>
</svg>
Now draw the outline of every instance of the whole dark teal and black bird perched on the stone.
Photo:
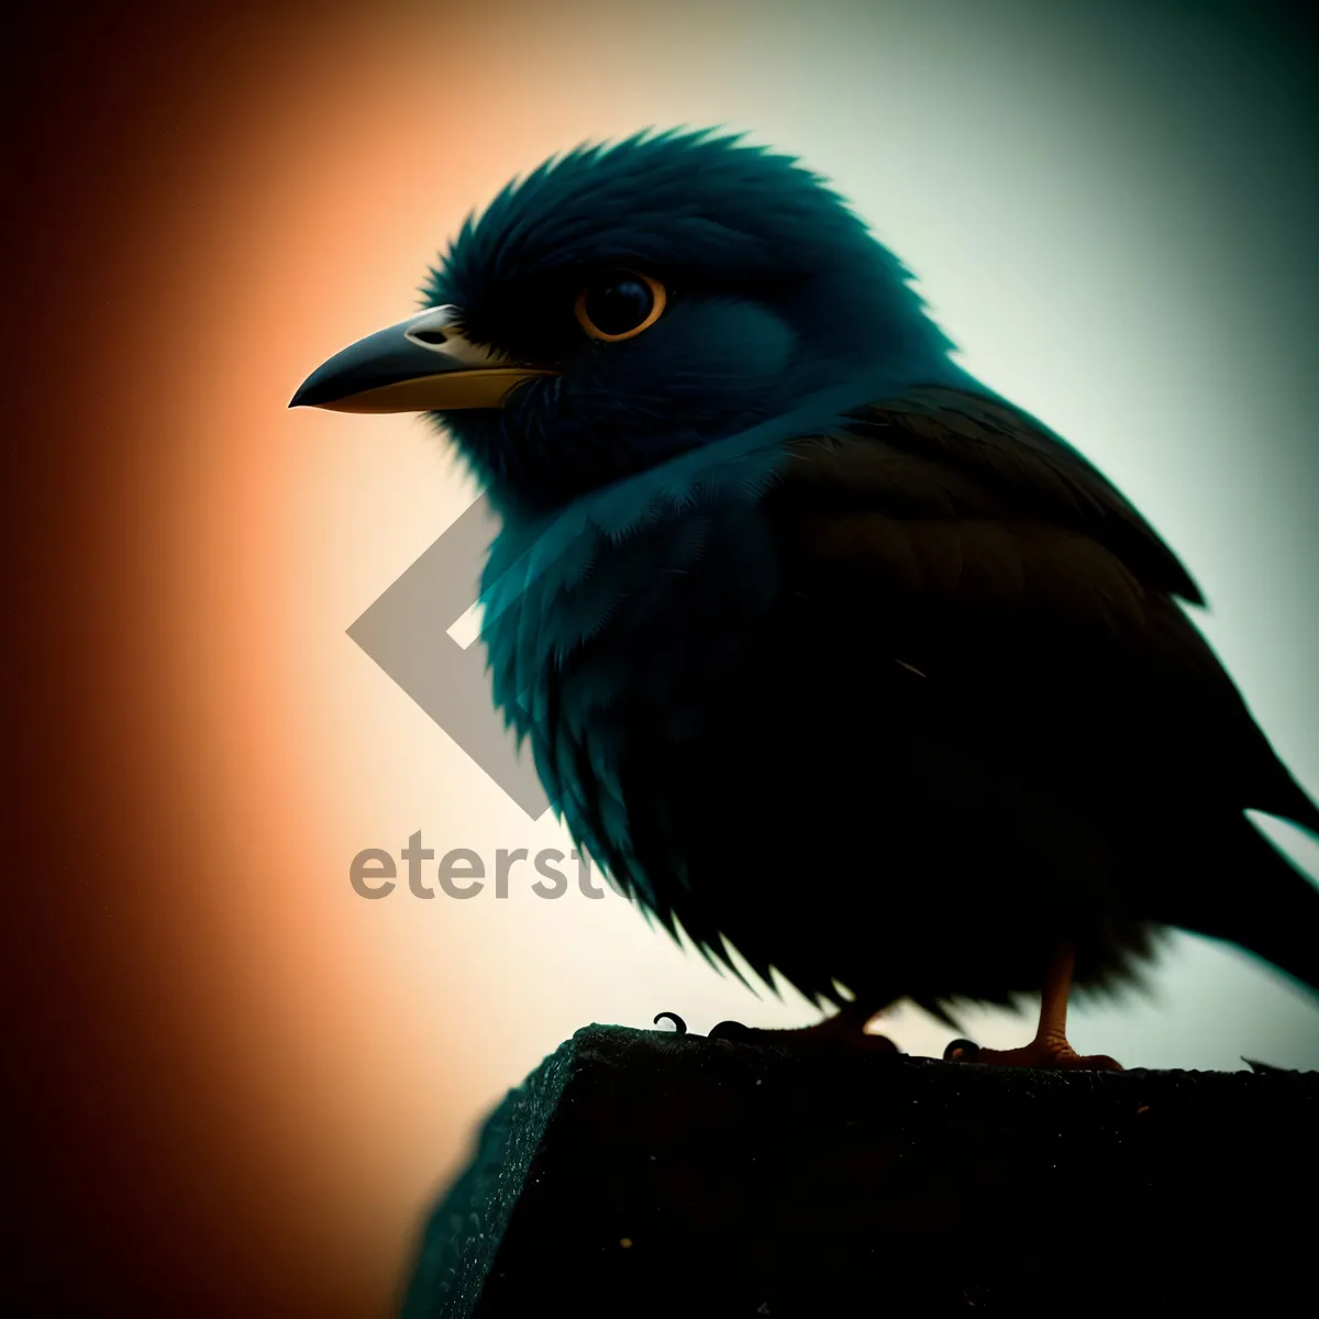
<svg viewBox="0 0 1319 1319">
<path fill-rule="evenodd" d="M 1178 929 L 1319 991 L 1319 892 L 1246 814 L 1319 809 L 1199 587 L 831 179 L 723 128 L 586 142 L 419 291 L 290 406 L 450 437 L 499 514 L 495 706 L 653 925 L 827 1014 L 769 1034 L 1038 995 L 1030 1042 L 947 1057 L 1121 1070 L 1067 1005 Z"/>
</svg>

